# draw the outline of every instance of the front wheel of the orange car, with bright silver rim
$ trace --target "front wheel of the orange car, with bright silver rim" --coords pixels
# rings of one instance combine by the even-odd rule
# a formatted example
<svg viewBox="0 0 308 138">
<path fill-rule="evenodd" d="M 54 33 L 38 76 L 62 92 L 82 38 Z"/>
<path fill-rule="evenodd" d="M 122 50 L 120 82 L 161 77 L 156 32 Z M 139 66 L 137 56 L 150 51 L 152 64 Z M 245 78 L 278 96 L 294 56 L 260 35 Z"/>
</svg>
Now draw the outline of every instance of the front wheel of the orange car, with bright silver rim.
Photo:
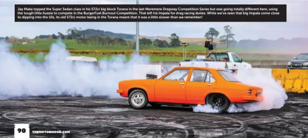
<svg viewBox="0 0 308 138">
<path fill-rule="evenodd" d="M 132 101 L 134 97 L 136 98 L 136 96 L 140 96 L 140 97 L 143 98 L 143 100 L 139 99 L 140 102 L 141 102 L 140 104 L 137 104 L 137 102 L 136 102 L 135 100 L 134 100 L 134 102 Z M 137 100 L 137 101 L 138 101 L 138 100 Z M 131 92 L 131 93 L 129 94 L 128 103 L 129 103 L 129 105 L 130 105 L 131 107 L 133 107 L 133 108 L 135 108 L 135 109 L 142 109 L 142 108 L 146 107 L 147 104 L 148 104 L 148 96 L 147 96 L 147 94 L 146 94 L 144 91 L 142 91 L 142 90 L 134 90 L 133 92 Z"/>
</svg>

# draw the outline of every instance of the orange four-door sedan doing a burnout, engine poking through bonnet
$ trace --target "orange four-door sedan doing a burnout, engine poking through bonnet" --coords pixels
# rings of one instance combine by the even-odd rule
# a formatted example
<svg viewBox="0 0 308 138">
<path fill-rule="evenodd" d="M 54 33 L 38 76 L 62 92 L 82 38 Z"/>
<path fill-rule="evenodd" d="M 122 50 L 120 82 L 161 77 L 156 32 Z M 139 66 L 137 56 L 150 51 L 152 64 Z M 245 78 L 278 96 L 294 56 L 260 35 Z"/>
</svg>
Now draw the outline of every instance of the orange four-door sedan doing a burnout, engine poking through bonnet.
<svg viewBox="0 0 308 138">
<path fill-rule="evenodd" d="M 225 112 L 231 103 L 262 101 L 263 89 L 239 82 L 229 72 L 206 67 L 175 67 L 159 79 L 119 82 L 117 93 L 131 107 L 210 104 Z"/>
</svg>

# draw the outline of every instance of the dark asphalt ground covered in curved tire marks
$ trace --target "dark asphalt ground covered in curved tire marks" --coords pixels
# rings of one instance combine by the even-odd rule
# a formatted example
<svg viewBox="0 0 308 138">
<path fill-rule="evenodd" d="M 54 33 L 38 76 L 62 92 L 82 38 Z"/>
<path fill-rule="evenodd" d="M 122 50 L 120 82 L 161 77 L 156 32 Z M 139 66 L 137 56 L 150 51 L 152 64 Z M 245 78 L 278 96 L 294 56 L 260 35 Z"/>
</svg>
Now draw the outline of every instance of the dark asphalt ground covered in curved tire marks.
<svg viewBox="0 0 308 138">
<path fill-rule="evenodd" d="M 105 97 L 1 100 L 0 137 L 14 137 L 14 123 L 30 123 L 30 130 L 70 131 L 30 137 L 307 137 L 308 95 L 288 96 L 281 109 L 224 114 L 170 106 L 135 110 L 127 99 Z"/>
</svg>

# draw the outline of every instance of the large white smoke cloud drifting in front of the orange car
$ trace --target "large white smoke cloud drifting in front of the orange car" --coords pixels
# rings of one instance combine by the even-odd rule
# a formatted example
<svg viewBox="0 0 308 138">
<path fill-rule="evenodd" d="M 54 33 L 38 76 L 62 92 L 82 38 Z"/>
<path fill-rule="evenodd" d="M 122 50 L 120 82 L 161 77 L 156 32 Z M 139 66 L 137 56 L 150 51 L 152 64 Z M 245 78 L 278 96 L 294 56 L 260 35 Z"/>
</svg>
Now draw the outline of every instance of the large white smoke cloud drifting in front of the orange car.
<svg viewBox="0 0 308 138">
<path fill-rule="evenodd" d="M 70 53 L 61 40 L 51 45 L 43 65 L 34 64 L 27 57 L 9 51 L 11 45 L 0 43 L 0 97 L 40 95 L 109 96 L 116 93 L 118 82 L 133 77 L 134 64 L 148 64 L 149 57 L 114 56 L 111 60 L 93 63 L 66 60 Z"/>
</svg>

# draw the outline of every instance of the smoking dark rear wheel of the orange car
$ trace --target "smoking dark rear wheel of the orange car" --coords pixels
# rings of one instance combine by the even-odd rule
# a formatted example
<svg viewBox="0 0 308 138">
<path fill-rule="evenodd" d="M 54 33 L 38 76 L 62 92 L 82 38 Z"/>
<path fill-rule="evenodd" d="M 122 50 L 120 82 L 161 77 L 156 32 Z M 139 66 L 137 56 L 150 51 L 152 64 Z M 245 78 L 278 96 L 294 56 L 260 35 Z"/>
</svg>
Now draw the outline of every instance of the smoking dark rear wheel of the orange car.
<svg viewBox="0 0 308 138">
<path fill-rule="evenodd" d="M 230 106 L 230 100 L 223 94 L 212 94 L 208 98 L 208 104 L 219 113 L 226 112 Z"/>
</svg>

